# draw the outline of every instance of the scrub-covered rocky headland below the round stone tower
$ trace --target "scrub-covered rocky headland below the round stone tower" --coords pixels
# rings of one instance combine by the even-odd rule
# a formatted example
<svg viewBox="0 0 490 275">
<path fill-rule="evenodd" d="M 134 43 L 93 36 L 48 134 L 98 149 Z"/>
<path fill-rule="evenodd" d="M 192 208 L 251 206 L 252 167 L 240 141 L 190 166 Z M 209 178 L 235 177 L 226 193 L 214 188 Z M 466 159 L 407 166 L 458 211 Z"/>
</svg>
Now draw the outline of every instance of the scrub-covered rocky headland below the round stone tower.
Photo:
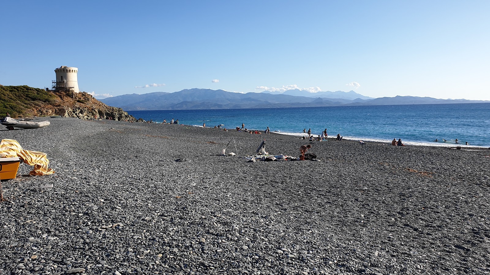
<svg viewBox="0 0 490 275">
<path fill-rule="evenodd" d="M 121 108 L 107 106 L 87 92 L 50 92 L 29 86 L 0 85 L 0 116 L 61 115 L 81 119 L 136 121 Z"/>
</svg>

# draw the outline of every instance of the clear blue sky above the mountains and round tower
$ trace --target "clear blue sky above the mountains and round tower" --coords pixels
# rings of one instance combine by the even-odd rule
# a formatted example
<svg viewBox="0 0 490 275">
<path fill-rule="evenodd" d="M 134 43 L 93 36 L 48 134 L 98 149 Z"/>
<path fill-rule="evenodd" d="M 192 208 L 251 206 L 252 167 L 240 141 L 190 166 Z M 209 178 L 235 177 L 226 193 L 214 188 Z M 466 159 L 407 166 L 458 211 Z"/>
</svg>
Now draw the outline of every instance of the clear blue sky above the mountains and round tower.
<svg viewBox="0 0 490 275">
<path fill-rule="evenodd" d="M 298 87 L 490 100 L 490 1 L 2 1 L 0 8 L 2 85 L 50 87 L 53 70 L 69 66 L 78 68 L 81 91 L 100 95 Z"/>
</svg>

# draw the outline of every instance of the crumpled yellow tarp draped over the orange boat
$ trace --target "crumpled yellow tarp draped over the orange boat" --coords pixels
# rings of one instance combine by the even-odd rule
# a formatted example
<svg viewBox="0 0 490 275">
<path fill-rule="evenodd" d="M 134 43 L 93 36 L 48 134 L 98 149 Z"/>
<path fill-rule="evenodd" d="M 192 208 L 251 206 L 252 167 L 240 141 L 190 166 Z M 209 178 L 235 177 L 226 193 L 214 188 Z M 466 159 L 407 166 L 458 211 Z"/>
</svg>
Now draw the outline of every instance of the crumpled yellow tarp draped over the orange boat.
<svg viewBox="0 0 490 275">
<path fill-rule="evenodd" d="M 48 168 L 49 160 L 46 153 L 27 151 L 22 149 L 17 140 L 2 139 L 0 142 L 0 158 L 21 158 L 25 163 L 34 165 L 34 170 L 29 174 L 32 176 L 44 176 L 54 173 Z"/>
</svg>

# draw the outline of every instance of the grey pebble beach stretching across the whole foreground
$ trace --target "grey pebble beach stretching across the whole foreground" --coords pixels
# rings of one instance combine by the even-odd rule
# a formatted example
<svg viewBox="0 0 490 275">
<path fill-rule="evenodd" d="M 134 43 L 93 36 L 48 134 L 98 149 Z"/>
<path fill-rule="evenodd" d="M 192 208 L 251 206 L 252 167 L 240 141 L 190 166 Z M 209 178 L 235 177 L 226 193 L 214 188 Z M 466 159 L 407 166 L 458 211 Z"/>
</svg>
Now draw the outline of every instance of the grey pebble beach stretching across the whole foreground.
<svg viewBox="0 0 490 275">
<path fill-rule="evenodd" d="M 49 120 L 0 131 L 56 169 L 2 182 L 2 275 L 490 272 L 490 150 Z"/>
</svg>

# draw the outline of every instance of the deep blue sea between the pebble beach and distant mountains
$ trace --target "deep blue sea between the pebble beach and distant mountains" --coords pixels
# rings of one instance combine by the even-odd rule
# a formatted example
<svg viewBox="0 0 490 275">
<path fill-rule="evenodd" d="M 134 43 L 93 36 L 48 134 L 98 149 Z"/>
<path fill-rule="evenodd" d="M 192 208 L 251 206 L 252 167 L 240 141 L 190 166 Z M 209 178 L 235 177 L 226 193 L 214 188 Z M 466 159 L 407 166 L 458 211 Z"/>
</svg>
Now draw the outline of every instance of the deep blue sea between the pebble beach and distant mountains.
<svg viewBox="0 0 490 275">
<path fill-rule="evenodd" d="M 401 138 L 405 144 L 454 146 L 468 142 L 490 147 L 490 103 L 414 104 L 376 106 L 335 106 L 266 109 L 129 111 L 129 115 L 162 122 L 178 119 L 179 124 L 227 129 L 242 126 L 287 135 L 304 135 L 311 128 L 328 137 L 390 142 Z M 440 142 L 434 142 L 435 139 Z M 446 139 L 443 142 L 442 139 Z"/>
</svg>

